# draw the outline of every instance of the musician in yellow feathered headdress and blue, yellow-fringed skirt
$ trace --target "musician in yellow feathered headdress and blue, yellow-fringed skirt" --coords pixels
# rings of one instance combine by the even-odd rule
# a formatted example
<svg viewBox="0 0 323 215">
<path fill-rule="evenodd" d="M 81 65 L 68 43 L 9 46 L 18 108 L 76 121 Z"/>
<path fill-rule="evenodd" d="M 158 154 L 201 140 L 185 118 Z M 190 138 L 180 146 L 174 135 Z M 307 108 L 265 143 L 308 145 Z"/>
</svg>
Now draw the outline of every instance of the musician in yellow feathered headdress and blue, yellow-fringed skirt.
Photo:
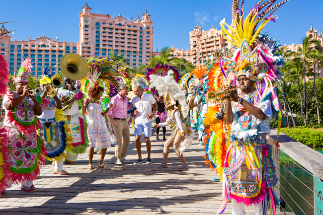
<svg viewBox="0 0 323 215">
<path fill-rule="evenodd" d="M 51 84 L 52 75 L 51 68 L 46 68 L 44 77 L 39 80 L 42 90 L 42 99 L 48 99 L 47 104 L 42 104 L 43 113 L 38 117 L 42 124 L 42 128 L 38 130 L 38 135 L 42 138 L 47 149 L 48 160 L 54 162 L 54 174 L 66 175 L 67 171 L 63 169 L 64 159 L 67 158 L 67 153 L 73 149 L 70 134 L 70 129 L 67 125 L 65 117 L 61 111 L 62 102 L 57 97 L 55 87 Z M 60 79 L 63 85 L 63 78 L 60 75 L 54 75 L 54 78 Z"/>
</svg>

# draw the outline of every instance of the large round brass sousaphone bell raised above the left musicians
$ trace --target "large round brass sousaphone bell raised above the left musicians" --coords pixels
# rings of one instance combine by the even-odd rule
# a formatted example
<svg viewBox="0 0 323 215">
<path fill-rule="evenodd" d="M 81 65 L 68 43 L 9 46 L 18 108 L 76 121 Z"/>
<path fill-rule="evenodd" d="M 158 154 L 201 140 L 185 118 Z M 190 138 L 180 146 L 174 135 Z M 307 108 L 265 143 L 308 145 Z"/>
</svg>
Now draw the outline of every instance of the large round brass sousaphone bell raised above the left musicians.
<svg viewBox="0 0 323 215">
<path fill-rule="evenodd" d="M 61 59 L 61 71 L 71 80 L 83 79 L 88 71 L 85 59 L 76 53 L 68 53 Z"/>
</svg>

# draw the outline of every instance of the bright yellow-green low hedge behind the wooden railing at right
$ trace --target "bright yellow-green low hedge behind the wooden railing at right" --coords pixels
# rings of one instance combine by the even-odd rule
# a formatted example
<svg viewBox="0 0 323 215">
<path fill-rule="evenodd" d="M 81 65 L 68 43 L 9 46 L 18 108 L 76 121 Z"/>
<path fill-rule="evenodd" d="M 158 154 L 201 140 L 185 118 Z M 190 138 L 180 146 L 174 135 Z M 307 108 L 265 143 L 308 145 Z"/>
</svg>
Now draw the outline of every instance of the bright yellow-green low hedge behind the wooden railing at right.
<svg viewBox="0 0 323 215">
<path fill-rule="evenodd" d="M 307 146 L 316 148 L 323 147 L 323 131 L 309 128 L 286 129 L 282 128 L 281 132 L 303 143 Z"/>
</svg>

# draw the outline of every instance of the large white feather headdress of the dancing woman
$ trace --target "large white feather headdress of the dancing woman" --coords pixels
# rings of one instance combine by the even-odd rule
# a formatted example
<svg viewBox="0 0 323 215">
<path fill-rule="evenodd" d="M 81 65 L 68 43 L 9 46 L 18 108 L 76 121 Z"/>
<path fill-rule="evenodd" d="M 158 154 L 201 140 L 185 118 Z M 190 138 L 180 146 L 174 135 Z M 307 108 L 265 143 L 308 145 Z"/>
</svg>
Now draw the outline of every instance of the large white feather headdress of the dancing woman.
<svg viewBox="0 0 323 215">
<path fill-rule="evenodd" d="M 178 101 L 183 118 L 188 115 L 189 107 L 186 104 L 185 94 L 180 88 L 179 84 L 174 80 L 173 72 L 170 70 L 165 76 L 152 74 L 150 76 L 149 89 L 154 88 L 159 95 L 166 96 L 172 105 Z"/>
</svg>

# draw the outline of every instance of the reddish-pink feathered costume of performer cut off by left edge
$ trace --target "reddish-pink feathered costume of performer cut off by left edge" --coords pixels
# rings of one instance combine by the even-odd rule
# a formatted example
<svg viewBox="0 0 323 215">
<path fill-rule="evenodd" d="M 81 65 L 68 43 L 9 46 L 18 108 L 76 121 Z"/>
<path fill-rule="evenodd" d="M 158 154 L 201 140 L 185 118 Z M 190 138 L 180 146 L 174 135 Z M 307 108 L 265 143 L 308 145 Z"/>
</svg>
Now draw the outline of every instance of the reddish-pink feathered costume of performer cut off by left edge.
<svg viewBox="0 0 323 215">
<path fill-rule="evenodd" d="M 1 51 L 0 51 L 1 52 Z M 7 92 L 7 84 L 9 83 L 8 64 L 0 55 L 0 95 L 3 97 Z M 7 154 L 8 133 L 5 128 L 0 128 L 0 196 L 5 191 L 10 181 L 10 163 L 8 162 L 9 156 Z"/>
</svg>

